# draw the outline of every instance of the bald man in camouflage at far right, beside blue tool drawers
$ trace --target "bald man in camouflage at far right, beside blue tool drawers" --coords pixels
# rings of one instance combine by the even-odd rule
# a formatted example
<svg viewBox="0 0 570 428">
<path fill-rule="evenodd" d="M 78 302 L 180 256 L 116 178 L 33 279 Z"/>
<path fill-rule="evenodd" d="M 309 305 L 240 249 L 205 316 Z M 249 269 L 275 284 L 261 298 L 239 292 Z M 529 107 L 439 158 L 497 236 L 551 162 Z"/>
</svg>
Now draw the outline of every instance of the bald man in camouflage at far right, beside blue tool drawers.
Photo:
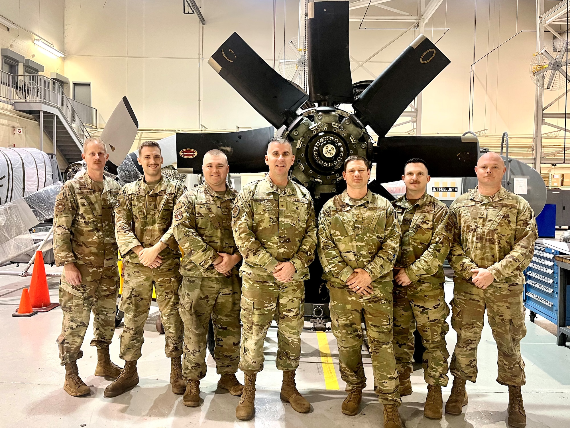
<svg viewBox="0 0 570 428">
<path fill-rule="evenodd" d="M 451 357 L 454 375 L 445 411 L 460 414 L 467 404 L 465 382 L 477 379 L 477 345 L 483 315 L 495 338 L 498 355 L 497 382 L 508 385 L 508 423 L 526 426 L 520 387 L 525 383 L 520 340 L 524 325 L 524 274 L 538 238 L 532 208 L 522 197 L 502 185 L 506 168 L 493 152 L 481 156 L 475 167 L 478 186 L 451 204 L 456 223 L 449 263 L 455 270 L 451 301 L 451 326 L 457 345 Z"/>
</svg>

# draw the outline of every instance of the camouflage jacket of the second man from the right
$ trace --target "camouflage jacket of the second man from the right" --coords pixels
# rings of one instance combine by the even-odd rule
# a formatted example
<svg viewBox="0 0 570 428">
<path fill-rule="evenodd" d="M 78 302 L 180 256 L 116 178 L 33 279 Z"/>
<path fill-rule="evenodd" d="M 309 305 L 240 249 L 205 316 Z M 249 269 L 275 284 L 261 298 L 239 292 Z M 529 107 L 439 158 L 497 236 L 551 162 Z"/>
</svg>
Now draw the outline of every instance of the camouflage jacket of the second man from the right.
<svg viewBox="0 0 570 428">
<path fill-rule="evenodd" d="M 453 240 L 453 221 L 447 205 L 427 193 L 413 206 L 406 195 L 392 205 L 402 229 L 395 266 L 404 268 L 412 282 L 443 282 L 442 264 Z"/>
</svg>

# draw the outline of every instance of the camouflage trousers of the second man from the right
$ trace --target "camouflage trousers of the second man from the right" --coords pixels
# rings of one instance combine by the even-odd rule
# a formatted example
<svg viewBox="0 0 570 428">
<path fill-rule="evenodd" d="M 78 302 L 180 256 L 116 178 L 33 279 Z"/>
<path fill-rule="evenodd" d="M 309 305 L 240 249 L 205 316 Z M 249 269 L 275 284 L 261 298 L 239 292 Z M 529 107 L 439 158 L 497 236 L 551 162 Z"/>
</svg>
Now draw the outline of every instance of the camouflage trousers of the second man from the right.
<svg viewBox="0 0 570 428">
<path fill-rule="evenodd" d="M 429 385 L 447 386 L 449 306 L 443 284 L 417 281 L 401 286 L 394 282 L 394 355 L 398 373 L 412 373 L 416 326 L 425 346 L 424 379 Z"/>
</svg>

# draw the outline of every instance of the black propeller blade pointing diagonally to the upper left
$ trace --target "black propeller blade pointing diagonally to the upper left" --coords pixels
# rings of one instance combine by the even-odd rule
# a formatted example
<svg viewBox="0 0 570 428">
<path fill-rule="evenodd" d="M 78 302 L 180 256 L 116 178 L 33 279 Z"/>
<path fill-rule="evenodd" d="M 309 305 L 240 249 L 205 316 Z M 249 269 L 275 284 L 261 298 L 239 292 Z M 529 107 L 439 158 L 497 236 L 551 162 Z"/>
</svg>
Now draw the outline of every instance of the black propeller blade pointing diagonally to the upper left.
<svg viewBox="0 0 570 428">
<path fill-rule="evenodd" d="M 211 56 L 208 64 L 275 128 L 291 123 L 307 92 L 273 70 L 237 33 Z"/>
</svg>

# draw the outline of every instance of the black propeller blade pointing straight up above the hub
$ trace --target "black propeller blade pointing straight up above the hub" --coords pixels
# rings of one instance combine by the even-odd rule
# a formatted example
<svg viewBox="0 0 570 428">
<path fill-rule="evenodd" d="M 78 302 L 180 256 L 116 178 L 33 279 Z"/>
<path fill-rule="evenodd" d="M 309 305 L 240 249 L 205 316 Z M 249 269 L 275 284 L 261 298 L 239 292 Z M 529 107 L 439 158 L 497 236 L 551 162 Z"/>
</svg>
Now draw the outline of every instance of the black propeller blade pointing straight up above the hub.
<svg viewBox="0 0 570 428">
<path fill-rule="evenodd" d="M 321 105 L 354 101 L 348 53 L 348 0 L 307 5 L 309 94 Z"/>
</svg>

